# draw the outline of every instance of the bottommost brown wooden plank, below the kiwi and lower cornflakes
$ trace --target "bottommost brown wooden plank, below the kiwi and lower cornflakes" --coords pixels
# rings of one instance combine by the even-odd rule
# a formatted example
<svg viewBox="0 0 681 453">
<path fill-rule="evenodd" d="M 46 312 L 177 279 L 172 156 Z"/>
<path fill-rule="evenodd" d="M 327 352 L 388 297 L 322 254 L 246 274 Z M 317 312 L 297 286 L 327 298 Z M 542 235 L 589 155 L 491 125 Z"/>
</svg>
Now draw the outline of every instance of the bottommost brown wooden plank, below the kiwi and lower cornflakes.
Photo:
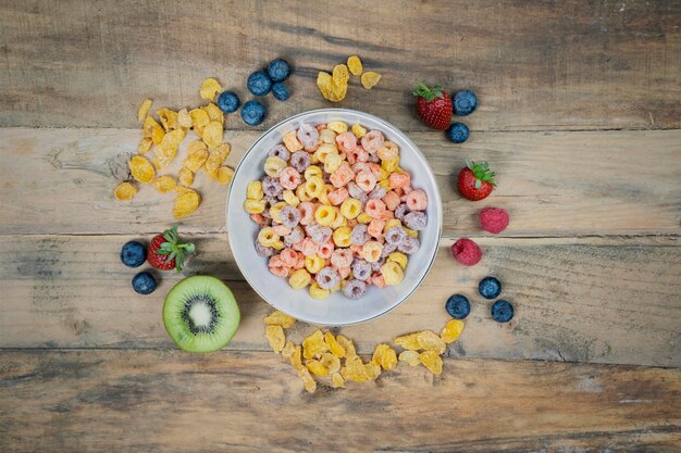
<svg viewBox="0 0 681 453">
<path fill-rule="evenodd" d="M 309 395 L 268 353 L 0 354 L 7 452 L 677 452 L 680 403 L 679 369 L 446 360 Z"/>
</svg>

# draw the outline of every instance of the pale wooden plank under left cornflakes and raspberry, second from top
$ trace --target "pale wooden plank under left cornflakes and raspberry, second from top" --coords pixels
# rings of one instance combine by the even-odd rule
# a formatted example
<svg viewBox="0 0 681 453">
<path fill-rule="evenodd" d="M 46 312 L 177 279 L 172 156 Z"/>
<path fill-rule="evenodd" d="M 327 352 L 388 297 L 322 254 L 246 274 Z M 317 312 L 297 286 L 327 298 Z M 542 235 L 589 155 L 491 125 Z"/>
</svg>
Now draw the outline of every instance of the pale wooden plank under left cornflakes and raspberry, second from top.
<svg viewBox="0 0 681 453">
<path fill-rule="evenodd" d="M 227 162 L 258 135 L 228 133 Z M 476 213 L 490 205 L 510 212 L 504 236 L 681 234 L 681 130 L 476 134 L 465 152 L 436 133 L 410 136 L 436 174 L 447 237 L 479 235 Z M 136 150 L 138 130 L 9 128 L 0 138 L 0 234 L 153 232 L 175 222 L 173 197 L 151 187 L 132 203 L 113 199 L 108 162 Z M 177 165 L 184 155 L 183 148 Z M 498 173 L 484 202 L 456 192 L 453 175 L 466 158 Z M 203 203 L 184 228 L 223 231 L 226 188 L 202 173 L 195 185 Z"/>
</svg>

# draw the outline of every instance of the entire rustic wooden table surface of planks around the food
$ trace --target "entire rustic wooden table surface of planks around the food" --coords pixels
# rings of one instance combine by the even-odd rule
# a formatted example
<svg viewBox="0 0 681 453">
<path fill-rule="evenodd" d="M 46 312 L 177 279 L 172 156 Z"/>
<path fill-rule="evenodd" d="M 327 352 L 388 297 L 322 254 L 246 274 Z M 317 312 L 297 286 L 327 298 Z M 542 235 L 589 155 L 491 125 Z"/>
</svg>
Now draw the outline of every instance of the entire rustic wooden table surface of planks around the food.
<svg viewBox="0 0 681 453">
<path fill-rule="evenodd" d="M 0 452 L 681 451 L 681 3 L 0 3 Z M 441 328 L 446 298 L 469 294 L 444 373 L 399 366 L 306 393 L 231 256 L 226 189 L 203 179 L 184 275 L 227 281 L 243 323 L 219 353 L 177 351 L 161 305 L 183 276 L 136 297 L 117 259 L 174 222 L 170 196 L 112 198 L 108 163 L 136 150 L 137 105 L 197 105 L 208 76 L 248 99 L 248 74 L 286 58 L 292 99 L 268 98 L 257 128 L 227 117 L 235 164 L 277 121 L 331 106 L 317 73 L 354 53 L 383 78 L 354 80 L 338 105 L 417 142 L 445 229 L 416 294 L 340 331 L 369 354 Z M 419 123 L 416 78 L 479 95 L 469 141 Z M 498 173 L 485 202 L 453 190 L 466 158 Z M 485 205 L 510 212 L 504 234 L 481 232 Z M 460 237 L 483 247 L 479 265 L 453 261 Z M 515 303 L 507 325 L 474 297 L 485 275 Z"/>
</svg>

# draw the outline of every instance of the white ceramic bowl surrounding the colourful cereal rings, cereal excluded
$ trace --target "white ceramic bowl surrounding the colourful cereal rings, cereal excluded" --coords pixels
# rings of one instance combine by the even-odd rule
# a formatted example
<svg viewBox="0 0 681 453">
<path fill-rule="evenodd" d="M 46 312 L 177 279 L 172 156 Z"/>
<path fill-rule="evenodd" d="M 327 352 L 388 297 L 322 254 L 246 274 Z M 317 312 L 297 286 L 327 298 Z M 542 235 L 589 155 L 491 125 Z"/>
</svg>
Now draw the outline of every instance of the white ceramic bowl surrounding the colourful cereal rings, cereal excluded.
<svg viewBox="0 0 681 453">
<path fill-rule="evenodd" d="M 243 209 L 246 187 L 249 181 L 264 175 L 262 165 L 272 147 L 282 142 L 282 137 L 289 130 L 297 129 L 301 123 L 317 125 L 331 121 L 343 121 L 348 125 L 359 123 L 368 130 L 379 129 L 386 139 L 399 146 L 400 166 L 411 174 L 412 187 L 428 193 L 428 226 L 420 231 L 421 249 L 409 257 L 405 279 L 395 287 L 379 289 L 369 287 L 367 293 L 351 300 L 335 292 L 324 300 L 312 299 L 307 289 L 295 290 L 286 279 L 276 277 L 268 270 L 267 259 L 258 255 L 253 242 L 258 235 L 258 225 L 249 218 Z M 270 305 L 290 316 L 311 324 L 323 326 L 344 326 L 362 323 L 381 316 L 399 305 L 421 284 L 435 260 L 442 235 L 442 202 L 433 171 L 417 146 L 395 126 L 367 113 L 346 109 L 313 110 L 292 116 L 264 133 L 244 154 L 236 167 L 230 186 L 226 217 L 230 246 L 239 269 L 249 285 Z"/>
</svg>

